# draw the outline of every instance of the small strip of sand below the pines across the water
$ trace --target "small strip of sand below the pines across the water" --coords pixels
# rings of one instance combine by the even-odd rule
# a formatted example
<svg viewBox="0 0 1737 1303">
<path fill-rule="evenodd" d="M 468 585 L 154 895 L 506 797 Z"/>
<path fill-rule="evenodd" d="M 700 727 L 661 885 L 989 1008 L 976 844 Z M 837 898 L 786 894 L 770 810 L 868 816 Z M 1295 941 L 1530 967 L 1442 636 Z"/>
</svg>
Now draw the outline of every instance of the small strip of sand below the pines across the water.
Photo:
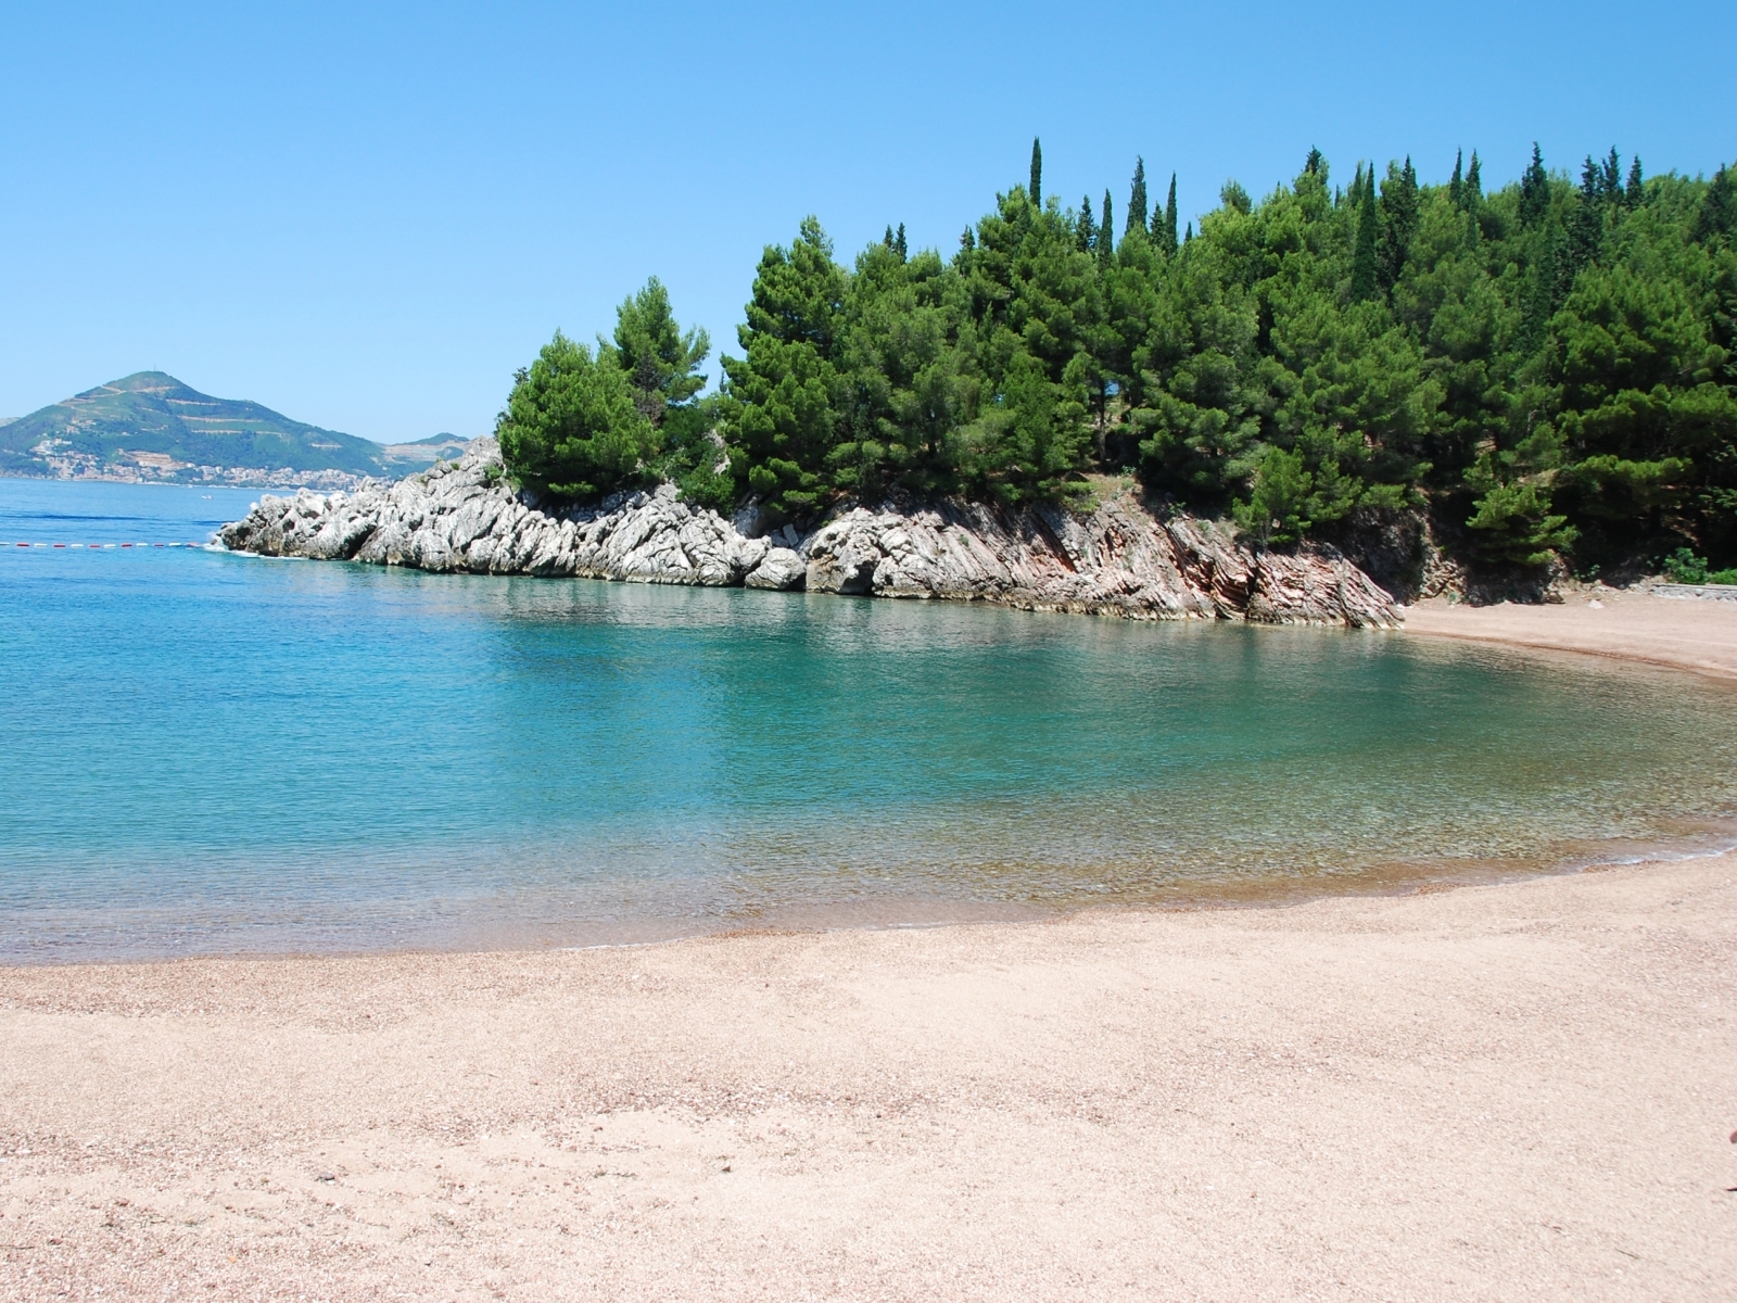
<svg viewBox="0 0 1737 1303">
<path fill-rule="evenodd" d="M 1737 679 L 1737 601 L 1612 589 L 1582 592 L 1556 606 L 1450 606 L 1435 598 L 1405 610 L 1405 631 L 1581 652 Z"/>
</svg>

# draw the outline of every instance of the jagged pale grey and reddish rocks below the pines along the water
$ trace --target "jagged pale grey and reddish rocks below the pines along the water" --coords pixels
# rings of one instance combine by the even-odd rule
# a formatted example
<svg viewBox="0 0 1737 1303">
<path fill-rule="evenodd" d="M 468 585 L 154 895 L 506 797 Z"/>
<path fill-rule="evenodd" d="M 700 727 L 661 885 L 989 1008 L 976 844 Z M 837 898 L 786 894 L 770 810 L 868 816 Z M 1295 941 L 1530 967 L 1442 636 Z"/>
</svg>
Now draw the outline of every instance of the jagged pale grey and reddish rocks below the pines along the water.
<svg viewBox="0 0 1737 1303">
<path fill-rule="evenodd" d="M 848 507 L 806 533 L 768 533 L 754 511 L 724 519 L 670 485 L 545 511 L 505 481 L 493 440 L 391 483 L 261 497 L 219 539 L 264 556 L 434 572 L 947 598 L 1141 620 L 1402 620 L 1393 596 L 1332 547 L 1251 551 L 1216 521 L 1153 514 L 1129 497 L 1089 516 L 969 502 Z"/>
</svg>

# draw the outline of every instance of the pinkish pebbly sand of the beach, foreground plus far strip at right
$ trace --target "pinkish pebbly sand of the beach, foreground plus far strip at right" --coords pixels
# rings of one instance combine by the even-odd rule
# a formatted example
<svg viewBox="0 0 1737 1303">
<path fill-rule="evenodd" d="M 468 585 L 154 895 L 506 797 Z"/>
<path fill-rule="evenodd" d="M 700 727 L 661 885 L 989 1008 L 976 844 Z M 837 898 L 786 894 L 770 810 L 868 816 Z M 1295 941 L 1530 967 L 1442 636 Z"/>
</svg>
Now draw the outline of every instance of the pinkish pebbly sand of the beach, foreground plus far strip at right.
<svg viewBox="0 0 1737 1303">
<path fill-rule="evenodd" d="M 1619 617 L 1605 650 L 1666 636 L 1638 610 L 1593 612 Z M 1734 954 L 1727 855 L 1289 907 L 0 969 L 0 1296 L 1723 1300 Z"/>
</svg>

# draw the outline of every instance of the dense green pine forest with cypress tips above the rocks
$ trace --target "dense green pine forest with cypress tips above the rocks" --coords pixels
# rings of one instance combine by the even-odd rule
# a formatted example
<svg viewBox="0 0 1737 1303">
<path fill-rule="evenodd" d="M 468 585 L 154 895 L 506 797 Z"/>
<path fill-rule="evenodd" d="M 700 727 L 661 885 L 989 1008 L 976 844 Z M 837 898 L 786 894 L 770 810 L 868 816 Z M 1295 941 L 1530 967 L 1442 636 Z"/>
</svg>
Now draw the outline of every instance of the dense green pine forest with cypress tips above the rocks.
<svg viewBox="0 0 1737 1303">
<path fill-rule="evenodd" d="M 672 478 L 797 521 L 900 493 L 1084 509 L 1120 474 L 1256 546 L 1409 519 L 1490 568 L 1737 565 L 1734 175 L 1612 149 L 1574 181 L 1534 148 L 1487 193 L 1480 167 L 1334 181 L 1311 151 L 1178 233 L 1174 177 L 1136 162 L 1120 210 L 1070 207 L 1034 142 L 950 254 L 888 226 L 842 266 L 815 219 L 766 248 L 716 394 L 657 280 L 596 347 L 556 335 L 502 448 L 554 497 Z"/>
</svg>

